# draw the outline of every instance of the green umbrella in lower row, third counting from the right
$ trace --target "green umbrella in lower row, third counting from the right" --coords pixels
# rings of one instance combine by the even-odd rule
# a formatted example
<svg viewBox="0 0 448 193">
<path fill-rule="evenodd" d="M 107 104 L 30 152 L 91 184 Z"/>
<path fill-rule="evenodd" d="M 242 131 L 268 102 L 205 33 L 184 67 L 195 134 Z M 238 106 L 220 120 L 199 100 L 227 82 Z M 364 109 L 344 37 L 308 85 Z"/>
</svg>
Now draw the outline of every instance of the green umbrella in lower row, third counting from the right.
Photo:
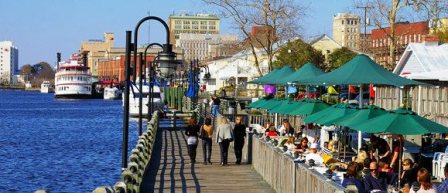
<svg viewBox="0 0 448 193">
<path fill-rule="evenodd" d="M 338 103 L 327 109 L 314 113 L 304 119 L 305 123 L 317 123 L 325 126 L 333 124 L 334 120 L 340 119 L 356 112 L 356 106 L 347 103 Z"/>
</svg>

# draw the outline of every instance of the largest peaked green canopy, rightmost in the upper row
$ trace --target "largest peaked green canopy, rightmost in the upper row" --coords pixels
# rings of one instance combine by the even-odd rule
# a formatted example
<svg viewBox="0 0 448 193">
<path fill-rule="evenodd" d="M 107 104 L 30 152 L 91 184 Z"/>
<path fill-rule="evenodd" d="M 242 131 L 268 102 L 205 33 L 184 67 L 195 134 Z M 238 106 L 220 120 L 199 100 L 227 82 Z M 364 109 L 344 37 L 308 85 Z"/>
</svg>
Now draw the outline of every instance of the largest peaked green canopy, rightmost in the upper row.
<svg viewBox="0 0 448 193">
<path fill-rule="evenodd" d="M 301 84 L 341 85 L 379 84 L 392 86 L 425 85 L 387 71 L 368 56 L 359 54 L 332 72 L 301 80 Z"/>
</svg>

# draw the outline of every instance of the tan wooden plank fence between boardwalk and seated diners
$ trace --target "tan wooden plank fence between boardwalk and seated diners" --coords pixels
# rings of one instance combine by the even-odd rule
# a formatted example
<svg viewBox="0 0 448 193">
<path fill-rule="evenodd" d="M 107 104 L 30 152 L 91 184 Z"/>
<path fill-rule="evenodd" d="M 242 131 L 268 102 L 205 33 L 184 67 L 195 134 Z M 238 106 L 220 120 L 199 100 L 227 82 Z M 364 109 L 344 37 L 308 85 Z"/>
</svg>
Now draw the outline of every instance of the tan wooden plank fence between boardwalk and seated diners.
<svg viewBox="0 0 448 193">
<path fill-rule="evenodd" d="M 252 165 L 276 192 L 333 193 L 344 188 L 308 166 L 294 160 L 254 137 L 252 141 Z"/>
</svg>

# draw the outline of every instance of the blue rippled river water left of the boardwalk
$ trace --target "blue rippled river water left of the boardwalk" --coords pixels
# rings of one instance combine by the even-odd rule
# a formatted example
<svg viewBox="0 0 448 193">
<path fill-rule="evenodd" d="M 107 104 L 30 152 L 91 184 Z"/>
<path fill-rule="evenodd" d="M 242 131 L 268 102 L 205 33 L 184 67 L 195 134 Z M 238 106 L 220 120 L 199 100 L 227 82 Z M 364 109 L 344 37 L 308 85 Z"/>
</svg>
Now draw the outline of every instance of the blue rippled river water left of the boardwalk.
<svg viewBox="0 0 448 193">
<path fill-rule="evenodd" d="M 131 121 L 129 147 L 137 140 Z M 0 90 L 0 192 L 92 192 L 120 178 L 121 101 Z"/>
</svg>

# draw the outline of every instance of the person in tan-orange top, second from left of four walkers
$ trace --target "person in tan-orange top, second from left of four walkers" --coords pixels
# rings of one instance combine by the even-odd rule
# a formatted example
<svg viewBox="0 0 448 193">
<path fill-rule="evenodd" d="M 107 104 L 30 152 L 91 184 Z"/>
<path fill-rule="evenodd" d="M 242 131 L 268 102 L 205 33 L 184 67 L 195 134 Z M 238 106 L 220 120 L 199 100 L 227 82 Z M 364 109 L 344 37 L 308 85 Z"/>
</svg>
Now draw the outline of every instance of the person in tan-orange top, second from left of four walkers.
<svg viewBox="0 0 448 193">
<path fill-rule="evenodd" d="M 205 119 L 200 133 L 200 137 L 202 138 L 202 157 L 204 158 L 204 165 L 207 165 L 207 163 L 211 165 L 213 127 L 210 118 Z"/>
</svg>

